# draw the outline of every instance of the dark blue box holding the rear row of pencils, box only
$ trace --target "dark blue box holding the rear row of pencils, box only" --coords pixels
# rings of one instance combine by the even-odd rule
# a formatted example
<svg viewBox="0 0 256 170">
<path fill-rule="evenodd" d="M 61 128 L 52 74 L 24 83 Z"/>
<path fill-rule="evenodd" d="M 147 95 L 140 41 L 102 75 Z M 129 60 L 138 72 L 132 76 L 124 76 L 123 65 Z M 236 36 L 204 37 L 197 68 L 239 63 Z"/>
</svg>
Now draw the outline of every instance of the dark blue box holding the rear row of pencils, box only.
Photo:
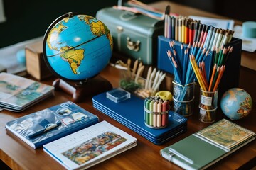
<svg viewBox="0 0 256 170">
<path fill-rule="evenodd" d="M 210 34 L 208 34 L 208 35 L 210 35 Z M 212 37 L 211 39 L 213 39 L 213 33 L 212 33 L 211 37 Z M 176 77 L 175 73 L 178 71 L 176 71 L 176 67 L 174 67 L 174 64 L 171 64 L 172 62 L 170 62 L 169 56 L 166 55 L 166 51 L 171 50 L 170 43 L 169 43 L 170 41 L 172 41 L 172 40 L 164 38 L 164 36 L 159 36 L 158 68 L 165 72 L 174 74 L 174 77 Z M 193 81 L 194 79 L 195 79 L 195 81 L 197 81 L 196 75 L 193 72 L 191 63 L 189 63 L 189 60 L 190 60 L 189 55 L 191 55 L 192 49 L 196 49 L 198 47 L 196 47 L 196 45 L 191 45 L 191 47 L 189 47 L 189 45 L 183 44 L 183 48 L 185 50 L 184 50 L 184 54 L 182 55 L 181 50 L 179 50 L 179 49 L 181 49 L 182 43 L 174 41 L 174 44 L 175 44 L 174 47 L 176 49 L 177 56 L 183 56 L 183 61 L 185 61 L 185 60 L 187 61 L 187 66 L 183 66 L 184 62 L 182 62 L 182 64 L 178 65 L 179 67 L 181 67 L 181 72 L 189 73 L 188 76 L 186 76 L 186 74 L 185 74 L 185 76 L 183 76 L 183 74 L 181 74 L 182 75 L 181 81 L 184 81 L 183 77 L 190 78 L 187 80 L 185 79 L 185 83 L 186 83 L 186 81 L 189 82 L 189 81 Z M 228 52 L 228 47 L 230 47 L 230 50 L 231 50 L 231 47 L 233 47 L 233 50 L 231 50 L 231 51 L 229 50 L 229 52 Z M 189 52 L 186 52 L 186 49 L 189 49 L 189 48 L 190 48 Z M 240 68 L 241 52 L 242 52 L 242 40 L 238 39 L 238 38 L 232 38 L 231 42 L 229 42 L 223 46 L 223 49 L 224 48 L 226 49 L 225 50 L 226 54 L 224 52 L 225 55 L 223 54 L 223 57 L 225 57 L 225 60 L 223 59 L 223 61 L 225 61 L 224 63 L 225 63 L 226 69 L 222 75 L 221 81 L 218 83 L 218 89 L 219 89 L 220 96 L 222 96 L 222 94 L 224 94 L 225 91 L 232 88 L 233 86 L 238 86 L 238 81 L 239 81 L 238 75 L 240 72 L 239 68 Z M 215 48 L 215 50 L 213 50 L 213 51 L 206 50 L 206 52 L 203 55 L 203 60 L 201 61 L 201 63 L 204 62 L 206 79 L 208 80 L 208 83 L 210 81 L 210 76 L 213 71 L 213 67 L 214 67 L 214 63 L 215 63 L 214 60 L 215 60 L 215 58 L 216 59 L 218 58 L 215 56 L 216 55 L 221 56 L 220 52 L 218 52 L 218 54 L 217 54 L 218 50 L 216 50 L 216 49 L 217 48 Z M 186 55 L 185 55 L 185 52 L 186 52 Z M 228 55 L 228 53 L 229 53 L 229 55 Z M 196 55 L 194 55 L 194 57 L 196 57 Z M 199 58 L 200 58 L 200 55 L 199 55 L 198 59 Z M 199 66 L 198 61 L 196 63 Z M 220 67 L 221 67 L 221 65 L 220 65 Z M 185 71 L 183 71 L 183 70 L 185 70 Z M 176 81 L 177 81 L 177 79 L 176 79 Z M 214 85 L 212 86 L 212 88 L 214 87 Z"/>
</svg>

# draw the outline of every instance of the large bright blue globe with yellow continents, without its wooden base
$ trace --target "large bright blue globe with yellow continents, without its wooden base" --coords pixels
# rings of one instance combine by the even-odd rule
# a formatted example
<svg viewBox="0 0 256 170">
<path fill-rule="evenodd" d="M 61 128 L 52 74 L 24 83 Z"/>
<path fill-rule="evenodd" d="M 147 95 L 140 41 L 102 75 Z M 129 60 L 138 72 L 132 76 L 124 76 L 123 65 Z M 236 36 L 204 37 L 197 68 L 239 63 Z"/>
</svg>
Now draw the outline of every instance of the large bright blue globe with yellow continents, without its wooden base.
<svg viewBox="0 0 256 170">
<path fill-rule="evenodd" d="M 110 62 L 113 40 L 97 18 L 67 13 L 49 26 L 43 38 L 43 58 L 61 79 L 85 81 Z"/>
</svg>

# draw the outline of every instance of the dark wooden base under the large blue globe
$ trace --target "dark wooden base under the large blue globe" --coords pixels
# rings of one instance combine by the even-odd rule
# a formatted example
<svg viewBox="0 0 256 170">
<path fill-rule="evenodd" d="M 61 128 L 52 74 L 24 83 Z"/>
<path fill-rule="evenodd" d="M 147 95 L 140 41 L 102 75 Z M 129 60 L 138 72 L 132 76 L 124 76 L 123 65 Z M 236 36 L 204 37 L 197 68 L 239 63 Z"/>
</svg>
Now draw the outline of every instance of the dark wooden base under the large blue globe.
<svg viewBox="0 0 256 170">
<path fill-rule="evenodd" d="M 74 102 L 80 102 L 86 96 L 100 94 L 112 89 L 110 82 L 100 76 L 80 82 L 56 79 L 53 81 L 53 86 L 56 90 L 62 89 L 66 93 L 70 94 L 73 97 Z"/>
</svg>

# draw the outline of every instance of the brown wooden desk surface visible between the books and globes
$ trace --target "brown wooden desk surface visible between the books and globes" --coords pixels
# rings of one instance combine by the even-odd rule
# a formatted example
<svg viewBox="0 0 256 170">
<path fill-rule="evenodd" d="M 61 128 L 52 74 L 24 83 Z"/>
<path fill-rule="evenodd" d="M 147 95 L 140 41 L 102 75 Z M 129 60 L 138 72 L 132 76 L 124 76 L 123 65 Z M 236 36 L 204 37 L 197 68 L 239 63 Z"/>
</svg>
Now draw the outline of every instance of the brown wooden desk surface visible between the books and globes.
<svg viewBox="0 0 256 170">
<path fill-rule="evenodd" d="M 174 4 L 175 5 L 175 4 Z M 186 7 L 185 7 L 186 8 Z M 177 9 L 176 9 L 177 10 Z M 188 11 L 189 12 L 189 11 Z M 189 13 L 197 14 L 197 13 Z M 119 86 L 119 74 L 118 70 L 114 67 L 106 67 L 100 75 L 105 79 L 109 80 L 113 87 Z M 251 96 L 252 99 L 256 100 L 256 91 L 254 90 L 256 86 L 256 72 L 247 69 L 245 67 L 240 68 L 240 84 L 239 87 L 245 89 Z M 52 84 L 54 78 L 47 79 L 43 81 L 46 84 Z M 100 86 L 100 85 L 99 85 Z M 21 113 L 14 113 L 11 111 L 1 111 L 0 112 L 0 158 L 5 162 L 11 169 L 64 169 L 63 166 L 55 162 L 53 158 L 48 156 L 43 152 L 42 148 L 33 149 L 26 145 L 26 143 L 19 140 L 17 137 L 7 135 L 4 126 L 7 121 L 13 120 L 23 115 L 39 111 L 43 108 L 48 108 L 50 106 L 56 105 L 63 101 L 72 100 L 71 96 L 65 94 L 63 91 L 55 91 L 55 96 L 37 103 L 31 108 L 26 109 Z M 255 102 L 253 103 L 255 105 Z M 198 112 L 188 118 L 188 130 L 187 132 L 178 135 L 169 142 L 164 143 L 164 145 L 154 145 L 149 142 L 144 137 L 138 135 L 136 132 L 130 130 L 126 126 L 118 123 L 112 118 L 105 114 L 100 113 L 95 108 L 92 107 L 92 98 L 87 97 L 79 106 L 85 108 L 87 111 L 97 115 L 100 120 L 107 120 L 117 128 L 121 128 L 130 135 L 137 138 L 137 147 L 129 149 L 127 152 L 117 155 L 105 162 L 93 166 L 91 169 L 180 169 L 176 164 L 166 161 L 159 154 L 160 149 L 178 142 L 179 140 L 191 135 L 193 132 L 197 132 L 202 128 L 210 125 L 207 123 L 201 123 L 198 120 Z M 256 107 L 252 109 L 246 118 L 242 120 L 235 121 L 239 125 L 245 128 L 253 130 L 256 132 L 255 120 L 256 120 Z M 218 111 L 217 120 L 225 118 L 225 115 Z M 191 146 L 193 147 L 193 146 Z M 217 164 L 210 167 L 210 169 L 238 169 L 256 166 L 256 140 L 250 142 L 248 145 L 238 149 L 233 154 L 220 160 Z"/>
</svg>

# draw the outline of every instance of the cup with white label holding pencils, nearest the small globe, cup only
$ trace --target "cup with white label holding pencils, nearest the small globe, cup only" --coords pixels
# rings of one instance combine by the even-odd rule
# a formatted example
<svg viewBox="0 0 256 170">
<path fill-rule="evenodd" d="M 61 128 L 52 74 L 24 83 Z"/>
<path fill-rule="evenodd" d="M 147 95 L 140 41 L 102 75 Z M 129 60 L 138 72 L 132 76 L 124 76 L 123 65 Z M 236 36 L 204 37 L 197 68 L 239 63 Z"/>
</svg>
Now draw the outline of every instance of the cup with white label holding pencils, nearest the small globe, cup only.
<svg viewBox="0 0 256 170">
<path fill-rule="evenodd" d="M 200 89 L 199 96 L 199 120 L 204 123 L 213 123 L 216 119 L 218 108 L 217 91 L 203 91 Z"/>
</svg>

